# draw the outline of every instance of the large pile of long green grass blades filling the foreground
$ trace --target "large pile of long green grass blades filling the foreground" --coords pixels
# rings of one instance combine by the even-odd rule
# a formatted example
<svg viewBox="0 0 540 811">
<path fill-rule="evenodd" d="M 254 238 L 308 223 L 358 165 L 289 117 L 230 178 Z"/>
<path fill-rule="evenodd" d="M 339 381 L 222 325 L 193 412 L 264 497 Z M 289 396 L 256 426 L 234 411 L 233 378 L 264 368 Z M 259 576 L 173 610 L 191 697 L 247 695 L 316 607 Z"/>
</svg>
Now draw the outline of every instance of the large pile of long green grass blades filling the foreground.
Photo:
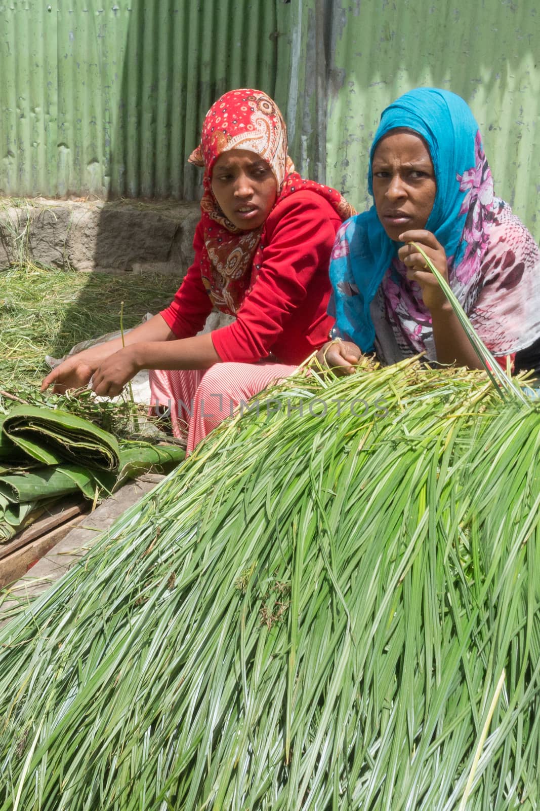
<svg viewBox="0 0 540 811">
<path fill-rule="evenodd" d="M 2 811 L 537 809 L 538 404 L 256 405 L 0 633 Z"/>
</svg>

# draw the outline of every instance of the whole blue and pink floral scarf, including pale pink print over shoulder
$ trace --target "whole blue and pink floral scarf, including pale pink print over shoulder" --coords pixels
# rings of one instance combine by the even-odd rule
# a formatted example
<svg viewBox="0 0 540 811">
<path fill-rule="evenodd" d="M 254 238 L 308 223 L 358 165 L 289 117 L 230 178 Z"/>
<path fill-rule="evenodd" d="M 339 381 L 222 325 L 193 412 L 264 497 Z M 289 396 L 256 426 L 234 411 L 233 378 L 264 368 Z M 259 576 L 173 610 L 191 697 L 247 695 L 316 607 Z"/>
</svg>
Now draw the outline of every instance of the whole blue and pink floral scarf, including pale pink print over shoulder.
<svg viewBox="0 0 540 811">
<path fill-rule="evenodd" d="M 487 347 L 513 354 L 540 336 L 538 248 L 507 204 L 493 193 L 482 138 L 466 102 L 454 93 L 419 88 L 385 109 L 372 144 L 406 127 L 426 142 L 436 200 L 426 228 L 444 246 L 449 284 Z M 371 169 L 369 186 L 372 191 Z M 375 344 L 372 306 L 382 307 L 377 330 L 393 333 L 401 355 L 435 359 L 431 316 L 419 285 L 406 277 L 375 207 L 342 225 L 330 264 L 336 334 L 364 351 Z M 374 301 L 375 299 L 375 301 Z"/>
</svg>

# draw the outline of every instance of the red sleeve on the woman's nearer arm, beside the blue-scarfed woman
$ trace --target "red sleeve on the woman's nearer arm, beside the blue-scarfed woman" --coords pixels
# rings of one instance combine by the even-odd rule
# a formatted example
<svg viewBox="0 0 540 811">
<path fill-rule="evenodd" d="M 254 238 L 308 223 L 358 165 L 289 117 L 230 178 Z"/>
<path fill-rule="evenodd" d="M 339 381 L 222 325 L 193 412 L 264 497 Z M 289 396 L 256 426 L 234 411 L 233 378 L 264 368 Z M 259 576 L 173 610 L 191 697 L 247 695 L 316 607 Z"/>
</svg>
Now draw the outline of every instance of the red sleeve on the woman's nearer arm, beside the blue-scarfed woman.
<svg viewBox="0 0 540 811">
<path fill-rule="evenodd" d="M 236 321 L 212 333 L 222 361 L 255 363 L 266 358 L 287 332 L 291 315 L 308 306 L 308 297 L 321 298 L 326 287 L 330 289 L 328 263 L 338 225 L 338 213 L 313 191 L 298 191 L 274 208 L 262 235 L 257 281 Z M 294 329 L 290 331 L 292 338 Z"/>
</svg>

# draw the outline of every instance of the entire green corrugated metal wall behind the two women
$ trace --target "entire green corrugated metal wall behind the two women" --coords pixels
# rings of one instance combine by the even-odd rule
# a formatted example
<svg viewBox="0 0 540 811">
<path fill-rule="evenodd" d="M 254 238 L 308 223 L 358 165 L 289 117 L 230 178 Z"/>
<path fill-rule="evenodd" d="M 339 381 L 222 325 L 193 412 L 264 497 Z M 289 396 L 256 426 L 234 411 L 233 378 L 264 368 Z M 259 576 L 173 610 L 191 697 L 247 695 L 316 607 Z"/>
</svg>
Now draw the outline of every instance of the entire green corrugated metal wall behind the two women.
<svg viewBox="0 0 540 811">
<path fill-rule="evenodd" d="M 434 84 L 478 118 L 495 189 L 540 238 L 537 0 L 0 0 L 0 190 L 195 198 L 228 88 L 286 114 L 291 155 L 364 208 L 381 109 Z"/>
</svg>

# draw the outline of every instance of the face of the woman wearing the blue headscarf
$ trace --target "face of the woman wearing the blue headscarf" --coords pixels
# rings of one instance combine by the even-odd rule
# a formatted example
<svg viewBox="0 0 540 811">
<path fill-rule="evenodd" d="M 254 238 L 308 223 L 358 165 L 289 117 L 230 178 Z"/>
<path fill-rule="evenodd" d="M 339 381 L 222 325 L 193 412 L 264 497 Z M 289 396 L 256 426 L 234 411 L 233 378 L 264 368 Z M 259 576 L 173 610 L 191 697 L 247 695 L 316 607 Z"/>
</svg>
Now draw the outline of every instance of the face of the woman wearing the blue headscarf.
<svg viewBox="0 0 540 811">
<path fill-rule="evenodd" d="M 426 227 L 437 191 L 427 147 L 412 132 L 392 131 L 381 138 L 372 162 L 376 212 L 390 239 Z"/>
</svg>

